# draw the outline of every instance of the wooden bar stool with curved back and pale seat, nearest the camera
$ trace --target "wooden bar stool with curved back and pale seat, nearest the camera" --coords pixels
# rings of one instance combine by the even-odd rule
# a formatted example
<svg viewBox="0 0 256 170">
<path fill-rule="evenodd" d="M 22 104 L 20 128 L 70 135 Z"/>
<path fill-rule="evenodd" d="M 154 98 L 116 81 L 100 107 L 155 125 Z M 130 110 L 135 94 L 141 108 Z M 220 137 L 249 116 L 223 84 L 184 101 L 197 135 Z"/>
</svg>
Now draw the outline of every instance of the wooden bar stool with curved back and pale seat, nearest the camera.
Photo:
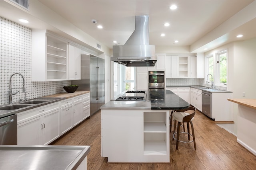
<svg viewBox="0 0 256 170">
<path fill-rule="evenodd" d="M 191 110 L 192 113 L 189 113 L 189 110 Z M 183 142 L 183 143 L 194 142 L 194 148 L 196 150 L 196 140 L 195 140 L 195 134 L 194 134 L 194 127 L 192 123 L 192 121 L 194 120 L 195 114 L 196 114 L 196 108 L 194 107 L 189 107 L 187 109 L 180 109 L 172 113 L 172 117 L 174 118 L 174 130 L 173 130 L 172 140 L 174 139 L 176 140 L 176 150 L 178 150 L 179 142 Z M 177 121 L 178 121 L 177 132 L 175 132 Z M 180 123 L 183 123 L 183 125 L 184 123 L 187 123 L 188 133 L 186 133 L 185 131 L 180 132 Z M 189 123 L 191 125 L 192 134 L 190 134 Z M 180 133 L 188 134 L 188 141 L 180 141 Z M 174 137 L 175 134 L 177 134 L 177 139 Z M 190 136 L 193 137 L 192 141 L 190 141 Z"/>
</svg>

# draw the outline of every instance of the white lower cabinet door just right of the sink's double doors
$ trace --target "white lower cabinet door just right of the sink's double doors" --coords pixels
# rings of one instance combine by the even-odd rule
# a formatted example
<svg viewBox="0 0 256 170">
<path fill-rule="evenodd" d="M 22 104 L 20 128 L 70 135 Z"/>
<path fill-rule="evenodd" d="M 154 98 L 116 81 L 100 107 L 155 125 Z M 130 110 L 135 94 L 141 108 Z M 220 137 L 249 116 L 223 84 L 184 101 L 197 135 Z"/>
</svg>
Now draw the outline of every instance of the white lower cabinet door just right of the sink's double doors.
<svg viewBox="0 0 256 170">
<path fill-rule="evenodd" d="M 60 109 L 60 135 L 72 129 L 73 105 Z"/>
</svg>

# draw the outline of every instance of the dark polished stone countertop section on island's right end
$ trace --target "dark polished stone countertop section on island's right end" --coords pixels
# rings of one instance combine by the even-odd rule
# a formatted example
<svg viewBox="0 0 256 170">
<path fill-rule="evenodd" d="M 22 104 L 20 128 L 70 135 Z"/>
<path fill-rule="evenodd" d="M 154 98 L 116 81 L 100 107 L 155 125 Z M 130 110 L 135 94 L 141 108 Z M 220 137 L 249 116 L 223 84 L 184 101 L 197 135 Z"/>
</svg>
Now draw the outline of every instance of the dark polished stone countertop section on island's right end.
<svg viewBox="0 0 256 170">
<path fill-rule="evenodd" d="M 190 106 L 188 102 L 170 90 L 150 90 L 151 109 L 185 109 Z"/>
</svg>

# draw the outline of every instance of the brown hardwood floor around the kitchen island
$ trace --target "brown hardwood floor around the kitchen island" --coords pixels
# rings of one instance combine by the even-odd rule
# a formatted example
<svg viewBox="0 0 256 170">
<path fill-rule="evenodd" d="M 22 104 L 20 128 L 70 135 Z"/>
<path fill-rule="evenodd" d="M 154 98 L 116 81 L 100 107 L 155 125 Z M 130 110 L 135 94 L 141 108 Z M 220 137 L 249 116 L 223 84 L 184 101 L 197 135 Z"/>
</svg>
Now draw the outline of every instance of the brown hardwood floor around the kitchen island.
<svg viewBox="0 0 256 170">
<path fill-rule="evenodd" d="M 170 140 L 170 163 L 107 163 L 107 158 L 100 156 L 100 123 L 98 111 L 50 145 L 90 145 L 88 170 L 256 169 L 256 156 L 236 143 L 234 135 L 220 128 L 199 111 L 196 111 L 193 121 L 197 149 L 194 150 L 193 143 L 180 143 L 176 150 L 176 141 Z"/>
</svg>

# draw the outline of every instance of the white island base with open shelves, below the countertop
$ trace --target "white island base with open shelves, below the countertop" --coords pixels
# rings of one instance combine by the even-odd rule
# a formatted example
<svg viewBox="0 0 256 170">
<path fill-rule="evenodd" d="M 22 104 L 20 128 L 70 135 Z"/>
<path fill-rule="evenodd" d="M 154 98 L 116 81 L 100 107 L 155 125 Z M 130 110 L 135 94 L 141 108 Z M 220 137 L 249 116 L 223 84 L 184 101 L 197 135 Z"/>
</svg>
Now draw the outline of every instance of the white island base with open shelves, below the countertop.
<svg viewBox="0 0 256 170">
<path fill-rule="evenodd" d="M 102 109 L 108 162 L 170 162 L 169 110 Z"/>
</svg>

